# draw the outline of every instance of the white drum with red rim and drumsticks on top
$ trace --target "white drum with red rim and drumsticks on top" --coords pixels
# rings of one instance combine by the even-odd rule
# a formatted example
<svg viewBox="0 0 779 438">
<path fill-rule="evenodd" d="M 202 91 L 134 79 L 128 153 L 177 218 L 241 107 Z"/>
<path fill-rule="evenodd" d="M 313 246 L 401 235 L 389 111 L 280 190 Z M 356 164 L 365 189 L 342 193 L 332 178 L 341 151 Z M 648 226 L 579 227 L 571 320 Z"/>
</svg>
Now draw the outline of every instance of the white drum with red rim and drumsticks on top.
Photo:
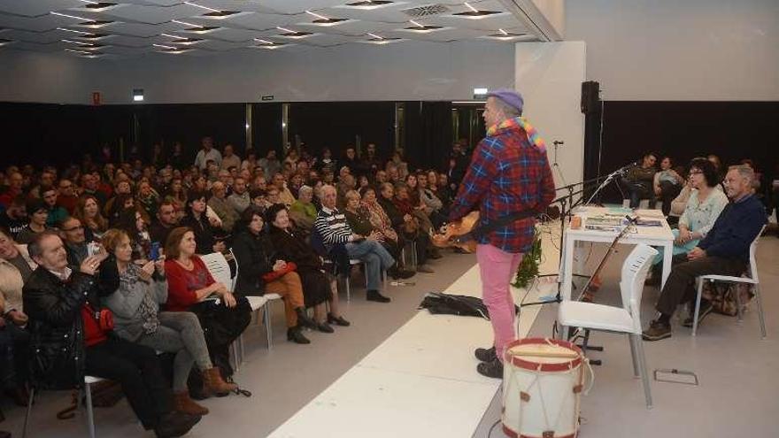
<svg viewBox="0 0 779 438">
<path fill-rule="evenodd" d="M 582 350 L 571 342 L 526 338 L 510 343 L 503 372 L 505 434 L 575 438 L 585 360 Z"/>
</svg>

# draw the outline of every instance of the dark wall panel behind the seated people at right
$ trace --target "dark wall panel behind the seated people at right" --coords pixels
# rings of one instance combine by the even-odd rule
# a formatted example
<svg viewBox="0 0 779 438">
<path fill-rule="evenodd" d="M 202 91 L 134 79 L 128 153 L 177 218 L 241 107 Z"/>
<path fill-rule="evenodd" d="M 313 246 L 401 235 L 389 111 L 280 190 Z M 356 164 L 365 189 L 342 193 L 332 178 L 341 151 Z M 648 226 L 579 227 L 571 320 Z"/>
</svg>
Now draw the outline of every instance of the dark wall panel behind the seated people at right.
<svg viewBox="0 0 779 438">
<path fill-rule="evenodd" d="M 606 101 L 603 111 L 601 173 L 641 157 L 644 150 L 670 155 L 677 164 L 716 154 L 725 165 L 752 158 L 772 178 L 779 160 L 776 102 Z M 587 154 L 598 155 L 598 150 Z M 596 176 L 588 169 L 586 179 Z M 764 179 L 764 181 L 770 181 Z M 610 199 L 617 197 L 609 190 Z"/>
</svg>

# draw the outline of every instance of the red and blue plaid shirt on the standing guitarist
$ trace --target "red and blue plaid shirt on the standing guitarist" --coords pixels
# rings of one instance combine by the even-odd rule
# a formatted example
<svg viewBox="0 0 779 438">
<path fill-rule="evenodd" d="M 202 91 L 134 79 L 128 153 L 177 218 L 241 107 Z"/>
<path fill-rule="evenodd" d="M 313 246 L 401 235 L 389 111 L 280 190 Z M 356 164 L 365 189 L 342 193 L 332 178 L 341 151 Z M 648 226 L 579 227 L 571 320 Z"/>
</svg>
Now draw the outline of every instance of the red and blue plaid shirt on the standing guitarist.
<svg viewBox="0 0 779 438">
<path fill-rule="evenodd" d="M 478 205 L 480 224 L 476 227 L 487 225 L 521 211 L 543 210 L 554 194 L 546 150 L 528 141 L 528 134 L 516 119 L 508 119 L 497 129 L 490 129 L 476 146 L 449 219 L 458 220 Z M 533 243 L 535 225 L 534 218 L 517 220 L 483 235 L 479 243 L 524 253 Z"/>
</svg>

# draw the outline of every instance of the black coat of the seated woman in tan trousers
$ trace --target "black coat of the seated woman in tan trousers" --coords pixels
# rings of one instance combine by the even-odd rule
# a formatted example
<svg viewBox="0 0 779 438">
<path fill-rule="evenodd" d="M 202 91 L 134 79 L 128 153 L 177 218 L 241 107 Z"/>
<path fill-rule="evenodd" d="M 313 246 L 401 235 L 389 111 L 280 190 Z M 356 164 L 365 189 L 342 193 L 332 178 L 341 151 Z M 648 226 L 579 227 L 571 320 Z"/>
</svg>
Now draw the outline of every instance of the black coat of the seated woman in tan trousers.
<svg viewBox="0 0 779 438">
<path fill-rule="evenodd" d="M 238 264 L 238 279 L 235 292 L 242 296 L 262 296 L 265 281 L 262 276 L 273 271 L 274 247 L 264 233 L 251 234 L 243 231 L 235 236 L 233 254 Z"/>
</svg>

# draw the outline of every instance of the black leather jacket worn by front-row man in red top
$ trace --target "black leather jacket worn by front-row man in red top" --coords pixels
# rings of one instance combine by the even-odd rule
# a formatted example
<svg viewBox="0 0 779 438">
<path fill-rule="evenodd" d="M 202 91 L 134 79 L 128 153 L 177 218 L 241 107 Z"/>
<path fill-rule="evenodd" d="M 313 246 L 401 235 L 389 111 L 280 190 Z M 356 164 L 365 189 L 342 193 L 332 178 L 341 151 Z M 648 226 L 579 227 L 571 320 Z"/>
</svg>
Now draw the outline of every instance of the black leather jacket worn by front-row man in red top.
<svg viewBox="0 0 779 438">
<path fill-rule="evenodd" d="M 97 280 L 74 272 L 65 282 L 42 266 L 24 286 L 29 316 L 30 378 L 36 388 L 69 389 L 84 381 L 84 327 L 81 307 L 98 306 Z"/>
</svg>

